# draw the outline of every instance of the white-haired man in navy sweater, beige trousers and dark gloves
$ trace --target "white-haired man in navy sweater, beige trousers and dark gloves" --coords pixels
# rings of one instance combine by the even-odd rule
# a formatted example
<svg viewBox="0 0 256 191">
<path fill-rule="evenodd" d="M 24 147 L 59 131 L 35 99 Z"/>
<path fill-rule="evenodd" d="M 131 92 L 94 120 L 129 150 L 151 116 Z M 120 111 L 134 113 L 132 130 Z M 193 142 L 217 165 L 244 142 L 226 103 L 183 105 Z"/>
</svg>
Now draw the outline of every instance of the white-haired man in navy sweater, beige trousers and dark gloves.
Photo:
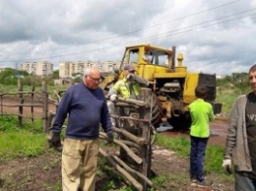
<svg viewBox="0 0 256 191">
<path fill-rule="evenodd" d="M 113 141 L 111 122 L 103 91 L 98 88 L 100 72 L 87 68 L 83 83 L 69 88 L 62 97 L 52 126 L 51 143 L 60 145 L 60 132 L 68 115 L 62 150 L 62 190 L 94 191 L 99 150 L 99 124 Z M 80 165 L 82 163 L 82 170 Z"/>
</svg>

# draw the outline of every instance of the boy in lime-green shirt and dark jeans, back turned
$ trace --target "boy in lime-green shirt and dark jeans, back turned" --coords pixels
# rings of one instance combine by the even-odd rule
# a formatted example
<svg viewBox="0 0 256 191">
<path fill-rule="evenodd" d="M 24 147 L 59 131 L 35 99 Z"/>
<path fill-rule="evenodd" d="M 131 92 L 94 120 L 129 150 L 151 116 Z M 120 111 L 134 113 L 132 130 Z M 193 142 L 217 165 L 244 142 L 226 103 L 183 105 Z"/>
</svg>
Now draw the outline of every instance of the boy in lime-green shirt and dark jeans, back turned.
<svg viewBox="0 0 256 191">
<path fill-rule="evenodd" d="M 210 137 L 209 123 L 214 120 L 214 110 L 211 103 L 204 100 L 207 96 L 207 87 L 198 86 L 195 90 L 197 99 L 189 106 L 192 119 L 190 128 L 190 177 L 197 186 L 211 186 L 204 177 L 204 160 L 207 142 Z"/>
</svg>

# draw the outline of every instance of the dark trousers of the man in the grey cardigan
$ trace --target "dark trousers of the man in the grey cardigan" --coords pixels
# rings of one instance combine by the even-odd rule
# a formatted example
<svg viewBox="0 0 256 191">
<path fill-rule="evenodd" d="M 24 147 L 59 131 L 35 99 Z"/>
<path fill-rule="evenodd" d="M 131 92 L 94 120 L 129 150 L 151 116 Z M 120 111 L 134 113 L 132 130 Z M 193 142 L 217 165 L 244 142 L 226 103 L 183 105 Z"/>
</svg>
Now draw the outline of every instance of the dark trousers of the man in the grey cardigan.
<svg viewBox="0 0 256 191">
<path fill-rule="evenodd" d="M 256 179 L 244 172 L 235 171 L 235 191 L 256 191 Z"/>
</svg>

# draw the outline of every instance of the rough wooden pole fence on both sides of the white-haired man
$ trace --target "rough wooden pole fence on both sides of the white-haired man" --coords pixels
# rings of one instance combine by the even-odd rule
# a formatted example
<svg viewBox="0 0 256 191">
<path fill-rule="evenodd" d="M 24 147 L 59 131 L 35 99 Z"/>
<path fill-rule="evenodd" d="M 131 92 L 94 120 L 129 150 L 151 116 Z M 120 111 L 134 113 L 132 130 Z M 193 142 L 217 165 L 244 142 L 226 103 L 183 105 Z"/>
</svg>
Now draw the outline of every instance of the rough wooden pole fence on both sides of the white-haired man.
<svg viewBox="0 0 256 191">
<path fill-rule="evenodd" d="M 1 103 L 1 115 L 4 115 L 4 107 L 18 107 L 19 112 L 18 114 L 18 124 L 19 127 L 22 127 L 22 122 L 24 117 L 28 117 L 24 115 L 24 108 L 25 107 L 31 107 L 32 112 L 32 125 L 34 125 L 34 119 L 39 118 L 42 119 L 43 123 L 43 131 L 45 133 L 50 133 L 49 128 L 51 127 L 51 120 L 55 116 L 55 110 L 49 111 L 49 101 L 53 101 L 55 104 L 56 102 L 59 102 L 61 99 L 60 94 L 57 94 L 57 101 L 54 101 L 54 99 L 50 98 L 48 92 L 47 92 L 47 86 L 45 82 L 42 82 L 42 91 L 41 92 L 34 92 L 34 87 L 32 87 L 32 92 L 23 92 L 23 86 L 22 86 L 22 80 L 19 81 L 18 84 L 18 93 L 5 93 L 0 94 L 0 103 Z M 62 92 L 63 93 L 63 92 Z M 100 154 L 108 159 L 110 163 L 121 173 L 123 174 L 135 187 L 137 190 L 146 191 L 148 190 L 148 186 L 154 187 L 153 182 L 149 179 L 150 172 L 151 172 L 151 160 L 152 160 L 152 146 L 151 146 L 151 106 L 149 95 L 151 95 L 151 90 L 143 90 L 141 93 L 141 99 L 140 100 L 134 100 L 134 99 L 127 99 L 124 98 L 124 102 L 126 104 L 133 105 L 134 108 L 138 109 L 139 117 L 133 117 L 133 116 L 116 116 L 117 118 L 121 120 L 132 120 L 134 121 L 134 124 L 136 124 L 138 128 L 138 134 L 133 134 L 132 132 L 125 132 L 124 128 L 122 130 L 113 128 L 115 132 L 121 133 L 123 136 L 126 136 L 127 138 L 124 140 L 114 140 L 114 143 L 117 144 L 120 148 L 122 148 L 125 152 L 127 152 L 127 155 L 132 158 L 133 161 L 135 161 L 136 166 L 134 168 L 134 165 L 129 163 L 126 159 L 122 160 L 116 155 L 106 153 L 100 148 Z M 6 104 L 4 103 L 3 99 L 4 96 L 17 96 L 18 97 L 18 103 L 15 104 Z M 30 102 L 28 100 L 27 95 L 31 96 Z M 41 98 L 41 102 L 36 100 L 35 96 L 39 95 Z M 25 98 L 27 97 L 27 99 Z M 121 98 L 121 97 L 120 97 Z M 57 106 L 57 104 L 56 104 Z M 34 108 L 35 107 L 41 107 L 42 108 L 42 114 L 41 117 L 35 117 L 34 116 Z M 100 133 L 100 138 L 106 139 L 106 135 L 104 133 Z M 134 150 L 135 149 L 135 150 Z"/>
</svg>

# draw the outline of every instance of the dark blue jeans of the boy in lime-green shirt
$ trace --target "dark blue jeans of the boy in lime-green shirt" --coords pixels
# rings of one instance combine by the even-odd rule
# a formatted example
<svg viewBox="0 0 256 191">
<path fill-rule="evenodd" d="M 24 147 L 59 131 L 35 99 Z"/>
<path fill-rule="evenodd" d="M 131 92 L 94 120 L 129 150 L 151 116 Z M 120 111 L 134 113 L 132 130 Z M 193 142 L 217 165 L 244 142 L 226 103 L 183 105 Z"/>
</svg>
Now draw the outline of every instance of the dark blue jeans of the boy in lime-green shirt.
<svg viewBox="0 0 256 191">
<path fill-rule="evenodd" d="M 208 138 L 190 136 L 190 178 L 204 181 L 204 161 Z"/>
</svg>

